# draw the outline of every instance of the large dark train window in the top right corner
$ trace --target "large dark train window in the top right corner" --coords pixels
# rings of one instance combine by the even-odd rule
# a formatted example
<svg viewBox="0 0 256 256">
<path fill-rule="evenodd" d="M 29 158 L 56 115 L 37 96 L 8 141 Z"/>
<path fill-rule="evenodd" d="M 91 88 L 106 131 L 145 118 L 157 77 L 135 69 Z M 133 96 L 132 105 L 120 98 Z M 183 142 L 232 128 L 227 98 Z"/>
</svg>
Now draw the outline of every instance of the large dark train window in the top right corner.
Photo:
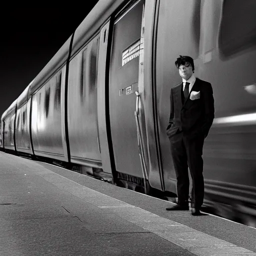
<svg viewBox="0 0 256 256">
<path fill-rule="evenodd" d="M 219 50 L 228 57 L 256 43 L 256 1 L 224 0 Z"/>
</svg>

